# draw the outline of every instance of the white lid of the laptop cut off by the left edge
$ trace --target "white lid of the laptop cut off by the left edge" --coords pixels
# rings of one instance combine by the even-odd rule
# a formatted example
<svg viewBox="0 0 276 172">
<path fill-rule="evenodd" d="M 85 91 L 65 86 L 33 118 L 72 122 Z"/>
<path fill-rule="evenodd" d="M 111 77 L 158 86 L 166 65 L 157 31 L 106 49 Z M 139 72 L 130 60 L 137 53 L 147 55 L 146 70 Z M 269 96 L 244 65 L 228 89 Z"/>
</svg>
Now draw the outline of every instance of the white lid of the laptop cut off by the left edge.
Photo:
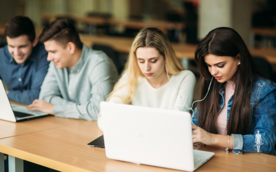
<svg viewBox="0 0 276 172">
<path fill-rule="evenodd" d="M 2 80 L 0 80 L 0 119 L 16 122 Z"/>
</svg>

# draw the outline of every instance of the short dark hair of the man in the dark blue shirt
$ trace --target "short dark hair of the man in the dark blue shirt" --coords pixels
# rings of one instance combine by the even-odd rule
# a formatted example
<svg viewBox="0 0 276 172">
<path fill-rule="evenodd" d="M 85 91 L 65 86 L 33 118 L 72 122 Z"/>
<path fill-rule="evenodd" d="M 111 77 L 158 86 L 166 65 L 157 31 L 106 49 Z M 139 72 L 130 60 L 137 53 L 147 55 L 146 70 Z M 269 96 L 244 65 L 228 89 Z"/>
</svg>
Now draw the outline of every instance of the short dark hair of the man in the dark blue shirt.
<svg viewBox="0 0 276 172">
<path fill-rule="evenodd" d="M 16 16 L 10 19 L 5 25 L 5 38 L 16 38 L 21 35 L 27 35 L 31 42 L 35 39 L 34 25 L 29 17 Z"/>
</svg>

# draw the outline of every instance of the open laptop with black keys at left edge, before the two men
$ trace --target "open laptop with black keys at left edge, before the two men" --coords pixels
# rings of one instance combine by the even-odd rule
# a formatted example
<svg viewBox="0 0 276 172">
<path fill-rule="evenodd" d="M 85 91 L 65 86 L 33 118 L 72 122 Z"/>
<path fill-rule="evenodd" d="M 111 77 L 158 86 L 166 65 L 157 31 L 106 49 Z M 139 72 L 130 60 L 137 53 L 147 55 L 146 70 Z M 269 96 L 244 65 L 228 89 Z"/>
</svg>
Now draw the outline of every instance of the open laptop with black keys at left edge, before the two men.
<svg viewBox="0 0 276 172">
<path fill-rule="evenodd" d="M 10 105 L 2 80 L 0 79 L 0 119 L 11 122 L 18 122 L 46 115 L 48 114 L 44 114 L 38 111 L 30 112 L 23 106 Z"/>
</svg>

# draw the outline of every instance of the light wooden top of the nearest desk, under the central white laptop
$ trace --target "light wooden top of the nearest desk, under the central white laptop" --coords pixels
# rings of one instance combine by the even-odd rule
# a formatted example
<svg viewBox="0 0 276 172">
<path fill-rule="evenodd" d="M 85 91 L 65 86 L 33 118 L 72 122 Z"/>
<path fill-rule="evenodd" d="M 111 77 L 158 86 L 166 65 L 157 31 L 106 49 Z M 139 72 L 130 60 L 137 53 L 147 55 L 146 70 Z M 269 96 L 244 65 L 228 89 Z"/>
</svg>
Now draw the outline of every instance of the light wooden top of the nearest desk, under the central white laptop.
<svg viewBox="0 0 276 172">
<path fill-rule="evenodd" d="M 39 122 L 38 122 L 39 123 Z M 0 139 L 0 152 L 66 172 L 176 172 L 107 159 L 105 150 L 87 146 L 100 136 L 95 121 Z M 215 155 L 196 172 L 276 171 L 276 157 L 266 154 L 226 154 L 224 148 L 201 146 Z"/>
</svg>

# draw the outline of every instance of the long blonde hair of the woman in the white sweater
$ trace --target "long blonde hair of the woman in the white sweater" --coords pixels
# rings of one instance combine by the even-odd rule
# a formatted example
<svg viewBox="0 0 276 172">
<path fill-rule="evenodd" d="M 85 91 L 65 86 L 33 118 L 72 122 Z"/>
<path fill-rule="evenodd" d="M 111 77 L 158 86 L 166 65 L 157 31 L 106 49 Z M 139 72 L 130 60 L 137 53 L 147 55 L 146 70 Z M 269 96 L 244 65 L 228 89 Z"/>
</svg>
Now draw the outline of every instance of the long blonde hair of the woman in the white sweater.
<svg viewBox="0 0 276 172">
<path fill-rule="evenodd" d="M 129 52 L 129 57 L 125 69 L 122 72 L 119 81 L 115 84 L 113 91 L 109 94 L 107 101 L 111 97 L 115 96 L 123 99 L 123 104 L 130 104 L 130 102 L 134 98 L 134 90 L 137 84 L 137 79 L 139 78 L 139 76 L 145 77 L 139 68 L 136 57 L 136 50 L 140 47 L 156 48 L 166 60 L 168 73 L 176 75 L 179 74 L 180 71 L 184 70 L 182 63 L 176 57 L 176 54 L 167 36 L 160 29 L 157 28 L 143 29 L 135 37 Z M 122 76 L 127 77 L 126 83 L 120 83 Z M 127 88 L 127 94 L 124 97 L 114 94 L 118 89 L 125 86 Z"/>
</svg>

